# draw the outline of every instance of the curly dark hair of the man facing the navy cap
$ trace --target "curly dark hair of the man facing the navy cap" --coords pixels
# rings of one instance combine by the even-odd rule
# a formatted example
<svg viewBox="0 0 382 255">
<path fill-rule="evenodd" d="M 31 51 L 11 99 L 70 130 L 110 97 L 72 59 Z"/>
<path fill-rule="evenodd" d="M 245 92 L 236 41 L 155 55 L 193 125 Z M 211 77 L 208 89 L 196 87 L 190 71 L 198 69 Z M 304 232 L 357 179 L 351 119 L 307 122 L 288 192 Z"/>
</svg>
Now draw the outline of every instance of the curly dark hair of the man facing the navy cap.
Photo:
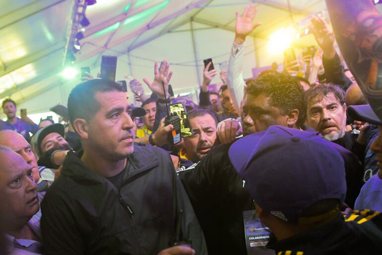
<svg viewBox="0 0 382 255">
<path fill-rule="evenodd" d="M 297 125 L 304 124 L 307 114 L 304 88 L 292 76 L 269 72 L 247 81 L 247 92 L 253 96 L 264 94 L 269 97 L 271 106 L 279 108 L 286 115 L 293 109 L 299 110 Z"/>
</svg>

